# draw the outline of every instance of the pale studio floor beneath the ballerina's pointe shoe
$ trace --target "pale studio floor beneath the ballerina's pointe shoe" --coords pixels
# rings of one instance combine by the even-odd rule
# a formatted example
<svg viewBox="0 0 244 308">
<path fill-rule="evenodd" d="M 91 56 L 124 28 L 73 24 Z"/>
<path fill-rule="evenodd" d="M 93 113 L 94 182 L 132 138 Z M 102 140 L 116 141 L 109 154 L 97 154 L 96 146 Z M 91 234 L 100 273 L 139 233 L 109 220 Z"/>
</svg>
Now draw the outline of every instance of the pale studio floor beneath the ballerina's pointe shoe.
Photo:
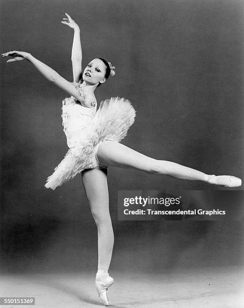
<svg viewBox="0 0 244 308">
<path fill-rule="evenodd" d="M 237 266 L 174 269 L 160 275 L 111 271 L 115 283 L 108 294 L 117 308 L 241 308 L 243 272 Z M 1 297 L 35 297 L 38 308 L 101 307 L 94 277 L 88 272 L 2 275 Z"/>
</svg>

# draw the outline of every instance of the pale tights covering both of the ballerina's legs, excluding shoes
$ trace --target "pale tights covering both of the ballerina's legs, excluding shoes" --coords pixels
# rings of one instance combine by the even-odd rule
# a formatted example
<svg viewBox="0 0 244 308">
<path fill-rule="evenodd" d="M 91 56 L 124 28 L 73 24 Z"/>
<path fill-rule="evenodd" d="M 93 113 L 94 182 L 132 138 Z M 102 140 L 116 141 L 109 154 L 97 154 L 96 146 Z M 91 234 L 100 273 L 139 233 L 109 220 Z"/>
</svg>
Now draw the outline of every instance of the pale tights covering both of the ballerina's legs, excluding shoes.
<svg viewBox="0 0 244 308">
<path fill-rule="evenodd" d="M 208 182 L 211 177 L 201 171 L 177 163 L 149 158 L 113 141 L 103 141 L 98 147 L 97 157 L 102 164 L 107 166 L 135 168 L 155 175 L 168 175 L 178 179 L 205 182 Z M 85 170 L 82 173 L 82 179 L 98 228 L 98 269 L 108 270 L 112 257 L 114 234 L 109 213 L 107 170 Z"/>
</svg>

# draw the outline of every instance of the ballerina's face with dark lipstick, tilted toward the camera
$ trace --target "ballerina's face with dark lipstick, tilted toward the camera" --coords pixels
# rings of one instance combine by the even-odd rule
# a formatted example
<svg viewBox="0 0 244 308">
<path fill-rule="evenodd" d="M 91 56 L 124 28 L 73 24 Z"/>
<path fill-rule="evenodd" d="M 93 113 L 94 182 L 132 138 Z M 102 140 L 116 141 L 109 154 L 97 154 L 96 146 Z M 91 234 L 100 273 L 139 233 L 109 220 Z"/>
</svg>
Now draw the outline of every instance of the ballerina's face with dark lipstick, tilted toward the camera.
<svg viewBox="0 0 244 308">
<path fill-rule="evenodd" d="M 102 60 L 92 60 L 84 69 L 83 80 L 91 85 L 96 85 L 100 82 L 104 83 L 106 81 L 104 78 L 106 68 L 107 67 Z"/>
</svg>

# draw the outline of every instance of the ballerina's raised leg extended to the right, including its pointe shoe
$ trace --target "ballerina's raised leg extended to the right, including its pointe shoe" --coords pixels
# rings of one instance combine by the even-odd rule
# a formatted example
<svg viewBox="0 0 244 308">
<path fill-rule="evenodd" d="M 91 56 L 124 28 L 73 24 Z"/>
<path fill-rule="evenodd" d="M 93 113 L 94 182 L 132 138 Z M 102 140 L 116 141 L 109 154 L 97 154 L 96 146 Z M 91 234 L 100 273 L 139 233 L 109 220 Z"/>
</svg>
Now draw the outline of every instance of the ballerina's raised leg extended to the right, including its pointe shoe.
<svg viewBox="0 0 244 308">
<path fill-rule="evenodd" d="M 184 180 L 205 181 L 222 186 L 237 187 L 241 185 L 241 180 L 236 177 L 216 177 L 177 163 L 155 160 L 118 142 L 102 142 L 98 147 L 97 156 L 101 163 L 108 166 L 135 168 L 152 174 L 168 175 Z"/>
</svg>

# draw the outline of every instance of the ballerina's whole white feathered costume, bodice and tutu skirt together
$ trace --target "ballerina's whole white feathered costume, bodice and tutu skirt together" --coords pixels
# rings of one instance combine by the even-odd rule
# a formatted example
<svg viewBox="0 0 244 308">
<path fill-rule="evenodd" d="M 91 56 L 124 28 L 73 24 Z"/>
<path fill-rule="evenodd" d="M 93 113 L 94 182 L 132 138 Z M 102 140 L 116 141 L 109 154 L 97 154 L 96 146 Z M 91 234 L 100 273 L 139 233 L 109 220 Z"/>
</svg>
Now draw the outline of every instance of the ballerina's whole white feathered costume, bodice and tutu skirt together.
<svg viewBox="0 0 244 308">
<path fill-rule="evenodd" d="M 55 189 L 85 169 L 104 168 L 96 159 L 99 143 L 104 140 L 120 142 L 134 123 L 135 110 L 128 100 L 112 97 L 101 102 L 96 111 L 94 96 L 85 93 L 83 85 L 74 86 L 80 101 L 91 107 L 78 104 L 74 97 L 63 100 L 63 130 L 69 150 L 48 177 L 46 188 Z"/>
</svg>

